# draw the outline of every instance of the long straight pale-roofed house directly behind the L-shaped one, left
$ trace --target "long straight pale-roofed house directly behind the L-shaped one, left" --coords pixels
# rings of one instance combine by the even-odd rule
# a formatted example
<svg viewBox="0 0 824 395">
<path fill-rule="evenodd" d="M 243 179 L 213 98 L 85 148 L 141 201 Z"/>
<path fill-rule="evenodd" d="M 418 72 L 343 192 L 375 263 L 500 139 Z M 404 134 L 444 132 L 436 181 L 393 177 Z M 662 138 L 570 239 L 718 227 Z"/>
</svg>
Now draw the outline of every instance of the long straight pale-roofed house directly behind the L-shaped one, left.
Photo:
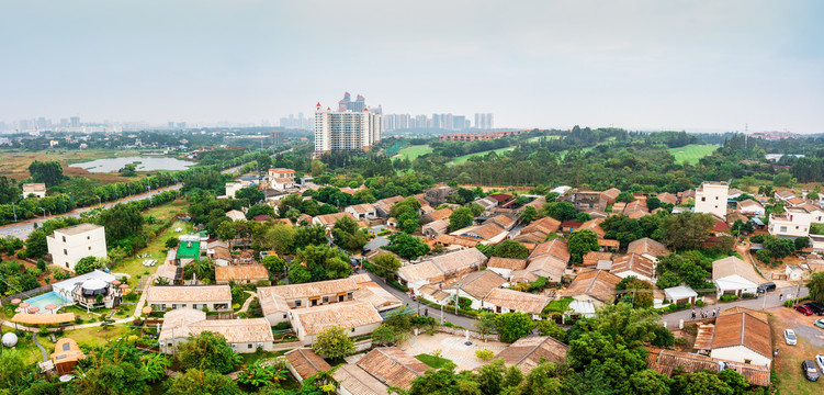
<svg viewBox="0 0 824 395">
<path fill-rule="evenodd" d="M 155 312 L 178 308 L 223 312 L 232 309 L 232 290 L 228 285 L 150 285 L 146 290 L 146 305 Z"/>
</svg>

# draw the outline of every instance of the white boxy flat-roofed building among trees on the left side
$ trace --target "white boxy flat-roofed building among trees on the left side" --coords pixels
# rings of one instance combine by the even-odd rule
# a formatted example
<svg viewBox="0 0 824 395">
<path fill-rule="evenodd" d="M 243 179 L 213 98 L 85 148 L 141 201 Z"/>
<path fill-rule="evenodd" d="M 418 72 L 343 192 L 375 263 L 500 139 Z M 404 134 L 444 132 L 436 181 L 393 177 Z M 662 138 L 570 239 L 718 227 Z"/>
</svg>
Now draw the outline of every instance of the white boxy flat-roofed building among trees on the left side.
<svg viewBox="0 0 824 395">
<path fill-rule="evenodd" d="M 80 259 L 86 257 L 105 258 L 105 229 L 100 225 L 79 224 L 55 230 L 46 237 L 52 262 L 75 270 Z"/>
</svg>

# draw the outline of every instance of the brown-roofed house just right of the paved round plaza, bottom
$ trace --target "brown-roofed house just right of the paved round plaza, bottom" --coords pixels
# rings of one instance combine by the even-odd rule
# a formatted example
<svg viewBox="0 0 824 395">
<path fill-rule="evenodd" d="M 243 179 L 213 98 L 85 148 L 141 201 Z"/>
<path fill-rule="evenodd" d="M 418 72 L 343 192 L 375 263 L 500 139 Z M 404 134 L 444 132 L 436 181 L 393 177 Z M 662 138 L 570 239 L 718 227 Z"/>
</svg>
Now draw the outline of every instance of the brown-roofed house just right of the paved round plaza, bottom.
<svg viewBox="0 0 824 395">
<path fill-rule="evenodd" d="M 550 336 L 528 336 L 509 345 L 495 358 L 504 360 L 507 366 L 517 366 L 524 375 L 544 362 L 561 363 L 566 360 L 569 346 Z"/>
</svg>

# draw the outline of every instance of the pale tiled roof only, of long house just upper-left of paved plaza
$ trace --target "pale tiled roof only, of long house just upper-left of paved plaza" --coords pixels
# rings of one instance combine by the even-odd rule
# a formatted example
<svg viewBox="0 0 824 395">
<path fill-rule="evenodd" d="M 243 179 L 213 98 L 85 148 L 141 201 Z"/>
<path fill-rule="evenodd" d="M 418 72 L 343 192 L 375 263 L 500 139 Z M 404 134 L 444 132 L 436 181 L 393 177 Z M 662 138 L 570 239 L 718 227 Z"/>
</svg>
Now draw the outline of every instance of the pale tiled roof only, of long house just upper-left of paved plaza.
<svg viewBox="0 0 824 395">
<path fill-rule="evenodd" d="M 340 302 L 291 311 L 292 316 L 305 329 L 306 335 L 317 335 L 331 326 L 346 329 L 383 321 L 369 302 Z"/>
</svg>

